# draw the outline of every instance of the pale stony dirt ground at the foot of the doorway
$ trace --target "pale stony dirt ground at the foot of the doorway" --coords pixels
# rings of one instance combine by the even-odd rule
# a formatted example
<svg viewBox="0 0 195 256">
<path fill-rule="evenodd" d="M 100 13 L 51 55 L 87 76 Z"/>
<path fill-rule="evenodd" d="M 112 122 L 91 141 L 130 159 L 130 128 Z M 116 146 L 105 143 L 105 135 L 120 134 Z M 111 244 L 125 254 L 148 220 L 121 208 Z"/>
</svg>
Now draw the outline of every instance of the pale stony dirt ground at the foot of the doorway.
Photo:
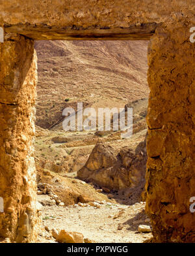
<svg viewBox="0 0 195 256">
<path fill-rule="evenodd" d="M 138 232 L 138 225 L 149 225 L 148 217 L 144 212 L 145 203 L 140 202 L 132 206 L 101 202 L 98 208 L 89 204 L 78 206 L 49 206 L 48 195 L 38 195 L 38 201 L 43 203 L 42 227 L 38 236 L 38 242 L 55 242 L 51 235 L 53 228 L 77 231 L 84 238 L 98 243 L 144 242 L 151 238 L 150 233 Z M 45 230 L 49 229 L 49 232 Z"/>
</svg>

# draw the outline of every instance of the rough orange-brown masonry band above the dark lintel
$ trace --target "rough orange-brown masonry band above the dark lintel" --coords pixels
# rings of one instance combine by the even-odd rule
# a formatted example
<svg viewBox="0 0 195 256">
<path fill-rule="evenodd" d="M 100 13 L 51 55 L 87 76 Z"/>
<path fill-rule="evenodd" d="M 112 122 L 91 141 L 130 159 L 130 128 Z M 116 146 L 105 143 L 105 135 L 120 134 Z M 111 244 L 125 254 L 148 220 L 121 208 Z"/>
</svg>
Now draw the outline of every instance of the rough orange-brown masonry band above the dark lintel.
<svg viewBox="0 0 195 256">
<path fill-rule="evenodd" d="M 193 18 L 195 12 L 193 0 L 1 0 L 0 5 L 0 23 L 83 28 L 168 22 L 175 15 Z"/>
</svg>

